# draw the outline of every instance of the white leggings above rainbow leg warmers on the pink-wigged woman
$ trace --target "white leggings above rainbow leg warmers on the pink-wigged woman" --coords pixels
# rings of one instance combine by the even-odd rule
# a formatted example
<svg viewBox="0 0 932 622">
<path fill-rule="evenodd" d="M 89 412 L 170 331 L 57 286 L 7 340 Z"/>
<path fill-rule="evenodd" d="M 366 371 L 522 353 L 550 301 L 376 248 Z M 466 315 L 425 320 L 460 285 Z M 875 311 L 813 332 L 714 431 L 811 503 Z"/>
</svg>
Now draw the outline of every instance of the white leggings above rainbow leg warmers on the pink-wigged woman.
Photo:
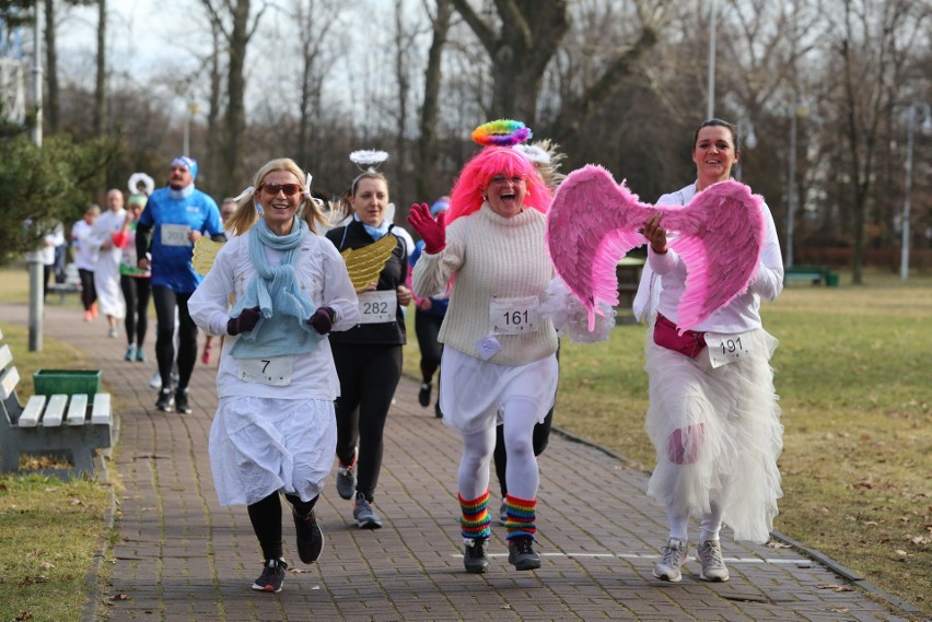
<svg viewBox="0 0 932 622">
<path fill-rule="evenodd" d="M 534 456 L 534 424 L 537 407 L 525 398 L 504 402 L 504 441 L 508 453 L 505 484 L 508 492 L 519 498 L 536 498 L 540 478 Z M 489 490 L 489 460 L 496 448 L 496 426 L 463 434 L 463 458 L 459 460 L 457 486 L 465 500 L 474 500 Z"/>
</svg>

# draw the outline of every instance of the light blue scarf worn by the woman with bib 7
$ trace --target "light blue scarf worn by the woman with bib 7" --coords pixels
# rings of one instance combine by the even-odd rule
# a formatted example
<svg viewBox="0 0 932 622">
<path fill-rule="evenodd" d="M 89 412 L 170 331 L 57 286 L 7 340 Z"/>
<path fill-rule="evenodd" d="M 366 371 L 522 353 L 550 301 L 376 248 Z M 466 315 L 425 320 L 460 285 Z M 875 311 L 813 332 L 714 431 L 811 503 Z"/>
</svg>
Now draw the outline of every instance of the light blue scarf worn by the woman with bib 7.
<svg viewBox="0 0 932 622">
<path fill-rule="evenodd" d="M 307 223 L 296 218 L 289 235 L 276 235 L 265 219 L 249 230 L 249 259 L 256 274 L 246 284 L 246 292 L 236 301 L 230 317 L 238 317 L 243 309 L 253 307 L 259 307 L 261 317 L 252 331 L 243 333 L 233 344 L 230 355 L 234 359 L 306 354 L 324 339 L 307 325 L 307 318 L 317 309 L 302 294 L 294 273 L 301 243 L 307 233 Z M 276 268 L 269 266 L 265 247 L 284 254 Z"/>
</svg>

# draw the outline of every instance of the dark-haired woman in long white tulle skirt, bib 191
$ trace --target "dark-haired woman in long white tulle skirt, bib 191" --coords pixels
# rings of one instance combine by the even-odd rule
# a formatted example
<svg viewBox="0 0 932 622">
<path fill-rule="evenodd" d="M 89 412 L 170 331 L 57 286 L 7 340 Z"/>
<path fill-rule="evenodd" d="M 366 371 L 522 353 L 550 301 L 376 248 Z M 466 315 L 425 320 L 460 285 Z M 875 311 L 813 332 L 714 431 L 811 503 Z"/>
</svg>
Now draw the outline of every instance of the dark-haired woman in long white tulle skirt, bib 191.
<svg viewBox="0 0 932 622">
<path fill-rule="evenodd" d="M 697 192 L 731 177 L 738 161 L 736 128 L 720 119 L 696 131 L 694 184 L 657 200 L 687 204 Z M 719 532 L 723 523 L 738 540 L 766 542 L 782 495 L 777 458 L 783 426 L 773 389 L 770 356 L 777 348 L 760 321 L 760 300 L 773 301 L 783 289 L 783 263 L 773 216 L 761 203 L 765 243 L 747 291 L 715 310 L 694 330 L 677 336 L 676 309 L 685 291 L 686 268 L 667 248 L 660 215 L 644 224 L 650 242 L 648 266 L 634 301 L 639 317 L 654 317 L 646 340 L 650 408 L 646 431 L 657 466 L 648 493 L 666 506 L 669 523 L 654 576 L 681 578 L 690 516 L 701 520 L 699 577 L 729 579 Z M 655 316 L 654 316 L 655 313 Z M 725 343 L 738 343 L 738 356 Z"/>
</svg>

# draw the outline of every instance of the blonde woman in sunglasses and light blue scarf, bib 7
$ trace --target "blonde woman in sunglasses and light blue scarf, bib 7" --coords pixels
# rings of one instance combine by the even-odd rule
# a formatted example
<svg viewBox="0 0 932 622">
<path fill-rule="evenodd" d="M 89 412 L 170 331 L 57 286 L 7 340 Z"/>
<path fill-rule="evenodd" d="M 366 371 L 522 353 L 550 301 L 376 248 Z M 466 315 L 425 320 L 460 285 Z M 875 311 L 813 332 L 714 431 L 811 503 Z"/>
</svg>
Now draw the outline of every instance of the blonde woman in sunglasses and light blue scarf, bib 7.
<svg viewBox="0 0 932 622">
<path fill-rule="evenodd" d="M 330 472 L 339 380 L 327 333 L 357 324 L 346 265 L 324 237 L 310 176 L 291 160 L 265 164 L 237 198 L 232 235 L 188 302 L 209 335 L 226 335 L 210 463 L 220 504 L 245 504 L 263 550 L 259 591 L 280 591 L 281 501 L 291 504 L 298 553 L 324 545 L 314 505 Z M 232 301 L 232 309 L 230 303 Z"/>
</svg>

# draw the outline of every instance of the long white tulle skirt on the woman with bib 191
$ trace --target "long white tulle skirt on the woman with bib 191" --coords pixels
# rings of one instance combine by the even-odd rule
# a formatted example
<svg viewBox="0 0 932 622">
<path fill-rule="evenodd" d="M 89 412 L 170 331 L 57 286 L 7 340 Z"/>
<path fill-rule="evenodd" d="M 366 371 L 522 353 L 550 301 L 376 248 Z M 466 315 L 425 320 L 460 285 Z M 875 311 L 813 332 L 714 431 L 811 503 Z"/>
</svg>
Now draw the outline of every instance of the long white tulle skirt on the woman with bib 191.
<svg viewBox="0 0 932 622">
<path fill-rule="evenodd" d="M 680 516 L 701 516 L 715 502 L 736 539 L 766 542 L 782 496 L 783 426 L 770 367 L 778 341 L 758 329 L 752 344 L 752 356 L 712 368 L 708 348 L 689 359 L 648 331 L 645 429 L 657 460 L 648 494 Z"/>
</svg>

